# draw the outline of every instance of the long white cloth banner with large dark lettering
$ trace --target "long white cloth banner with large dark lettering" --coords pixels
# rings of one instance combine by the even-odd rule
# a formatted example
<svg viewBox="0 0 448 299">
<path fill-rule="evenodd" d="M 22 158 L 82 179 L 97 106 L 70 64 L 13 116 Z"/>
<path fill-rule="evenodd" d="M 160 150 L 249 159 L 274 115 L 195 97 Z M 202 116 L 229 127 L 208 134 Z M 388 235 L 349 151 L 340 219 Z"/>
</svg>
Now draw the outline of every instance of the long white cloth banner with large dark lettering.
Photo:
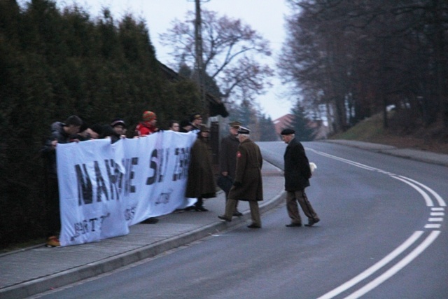
<svg viewBox="0 0 448 299">
<path fill-rule="evenodd" d="M 128 226 L 169 214 L 185 198 L 194 133 L 57 145 L 62 246 L 126 235 Z"/>
</svg>

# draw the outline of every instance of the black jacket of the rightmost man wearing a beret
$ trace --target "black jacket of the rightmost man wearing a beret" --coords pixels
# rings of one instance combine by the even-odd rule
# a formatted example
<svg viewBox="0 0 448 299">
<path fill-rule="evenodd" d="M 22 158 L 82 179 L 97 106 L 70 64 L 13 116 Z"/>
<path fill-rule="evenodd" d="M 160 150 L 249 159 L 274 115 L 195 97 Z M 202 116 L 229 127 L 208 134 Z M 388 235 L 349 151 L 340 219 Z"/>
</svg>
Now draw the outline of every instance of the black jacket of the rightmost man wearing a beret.
<svg viewBox="0 0 448 299">
<path fill-rule="evenodd" d="M 309 186 L 311 169 L 309 161 L 300 141 L 293 138 L 286 146 L 284 172 L 285 172 L 285 190 L 297 191 L 303 190 Z"/>
</svg>

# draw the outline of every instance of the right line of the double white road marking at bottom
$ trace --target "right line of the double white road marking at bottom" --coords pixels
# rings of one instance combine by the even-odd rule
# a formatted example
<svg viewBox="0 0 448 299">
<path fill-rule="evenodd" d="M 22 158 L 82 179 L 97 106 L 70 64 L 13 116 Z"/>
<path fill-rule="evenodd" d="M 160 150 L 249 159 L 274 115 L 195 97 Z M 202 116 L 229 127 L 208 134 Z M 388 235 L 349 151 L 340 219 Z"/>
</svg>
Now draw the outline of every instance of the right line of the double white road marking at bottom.
<svg viewBox="0 0 448 299">
<path fill-rule="evenodd" d="M 372 291 L 372 289 L 376 288 L 380 284 L 382 284 L 387 279 L 391 278 L 394 274 L 396 274 L 398 271 L 400 271 L 403 267 L 405 267 L 407 264 L 411 263 L 414 258 L 420 255 L 431 243 L 434 242 L 434 240 L 440 235 L 440 230 L 434 230 L 433 232 L 428 235 L 428 237 L 414 249 L 411 253 L 409 253 L 405 258 L 400 260 L 396 265 L 391 267 L 389 270 L 381 274 L 381 276 L 377 277 L 373 281 L 370 281 L 370 283 L 366 284 L 362 288 L 360 288 L 358 291 L 352 293 L 351 295 L 347 296 L 345 299 L 356 299 L 360 298 L 360 296 L 364 295 L 365 293 Z"/>
</svg>

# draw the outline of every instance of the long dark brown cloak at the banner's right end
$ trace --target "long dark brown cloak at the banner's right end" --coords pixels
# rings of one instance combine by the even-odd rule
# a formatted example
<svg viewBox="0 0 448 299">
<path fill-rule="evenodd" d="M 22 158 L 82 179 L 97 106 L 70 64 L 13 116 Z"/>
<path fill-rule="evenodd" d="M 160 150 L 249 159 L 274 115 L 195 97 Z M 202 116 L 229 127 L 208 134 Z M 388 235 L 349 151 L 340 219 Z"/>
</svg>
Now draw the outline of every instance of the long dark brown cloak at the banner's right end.
<svg viewBox="0 0 448 299">
<path fill-rule="evenodd" d="M 216 197 L 216 183 L 211 167 L 211 153 L 206 139 L 197 137 L 190 151 L 186 197 Z"/>
</svg>

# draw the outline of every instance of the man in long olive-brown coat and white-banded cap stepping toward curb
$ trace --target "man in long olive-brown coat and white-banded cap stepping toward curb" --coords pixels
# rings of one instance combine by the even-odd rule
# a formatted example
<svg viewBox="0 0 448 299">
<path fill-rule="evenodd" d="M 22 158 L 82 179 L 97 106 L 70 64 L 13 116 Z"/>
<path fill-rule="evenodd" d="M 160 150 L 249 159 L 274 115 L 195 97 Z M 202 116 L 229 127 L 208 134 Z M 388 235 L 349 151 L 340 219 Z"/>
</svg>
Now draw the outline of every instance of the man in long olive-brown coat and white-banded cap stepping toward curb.
<svg viewBox="0 0 448 299">
<path fill-rule="evenodd" d="M 235 182 L 229 192 L 225 204 L 225 214 L 218 218 L 232 221 L 237 200 L 249 202 L 252 223 L 248 228 L 261 228 L 260 209 L 258 202 L 263 200 L 262 188 L 262 155 L 260 148 L 249 139 L 249 130 L 240 127 L 238 130 L 239 147 L 237 151 L 237 169 Z"/>
</svg>

